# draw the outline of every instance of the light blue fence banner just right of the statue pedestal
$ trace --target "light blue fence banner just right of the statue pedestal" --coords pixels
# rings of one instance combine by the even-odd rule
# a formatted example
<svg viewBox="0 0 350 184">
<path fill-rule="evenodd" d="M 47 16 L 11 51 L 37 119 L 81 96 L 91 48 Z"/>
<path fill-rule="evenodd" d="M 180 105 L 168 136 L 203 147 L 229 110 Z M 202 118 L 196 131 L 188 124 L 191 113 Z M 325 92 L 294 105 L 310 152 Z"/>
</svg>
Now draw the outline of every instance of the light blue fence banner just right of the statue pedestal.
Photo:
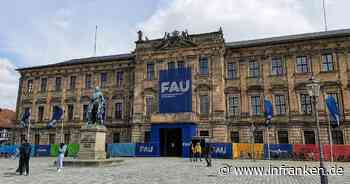
<svg viewBox="0 0 350 184">
<path fill-rule="evenodd" d="M 108 144 L 107 153 L 110 157 L 133 157 L 135 156 L 134 143 Z"/>
</svg>

